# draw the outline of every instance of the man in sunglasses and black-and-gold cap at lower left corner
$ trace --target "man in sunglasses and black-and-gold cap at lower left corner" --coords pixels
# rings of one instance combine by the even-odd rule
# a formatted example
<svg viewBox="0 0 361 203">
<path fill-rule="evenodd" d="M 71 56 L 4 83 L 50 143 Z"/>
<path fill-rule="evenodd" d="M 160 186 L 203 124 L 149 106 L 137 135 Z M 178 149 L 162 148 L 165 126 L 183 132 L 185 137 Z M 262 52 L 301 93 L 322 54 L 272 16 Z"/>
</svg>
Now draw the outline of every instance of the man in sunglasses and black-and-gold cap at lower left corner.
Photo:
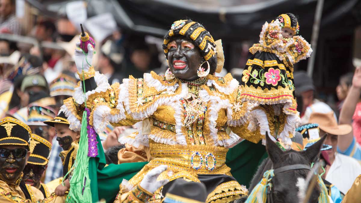
<svg viewBox="0 0 361 203">
<path fill-rule="evenodd" d="M 0 120 L 0 202 L 35 202 L 44 198 L 35 187 L 21 183 L 30 157 L 30 134 L 29 126 L 15 118 Z"/>
</svg>

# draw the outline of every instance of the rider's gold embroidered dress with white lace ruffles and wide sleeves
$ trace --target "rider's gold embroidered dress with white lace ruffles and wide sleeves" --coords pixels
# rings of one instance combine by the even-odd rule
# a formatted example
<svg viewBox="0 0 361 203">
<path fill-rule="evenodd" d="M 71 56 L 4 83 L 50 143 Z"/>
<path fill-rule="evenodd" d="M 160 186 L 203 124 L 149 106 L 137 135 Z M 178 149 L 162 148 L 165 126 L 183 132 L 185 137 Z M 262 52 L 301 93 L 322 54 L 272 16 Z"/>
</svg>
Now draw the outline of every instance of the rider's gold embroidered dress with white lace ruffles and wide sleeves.
<svg viewBox="0 0 361 203">
<path fill-rule="evenodd" d="M 91 110 L 90 124 L 98 133 L 109 122 L 114 126 L 136 124 L 139 133 L 135 137 L 123 137 L 121 142 L 149 146 L 154 157 L 129 182 L 121 184 L 116 202 L 134 201 L 134 195 L 140 193 L 146 195 L 137 190 L 139 182 L 158 165 L 169 166 L 159 179 L 170 181 L 185 178 L 200 182 L 198 174 L 231 176 L 225 164 L 227 147 L 241 138 L 257 143 L 266 131 L 293 133 L 292 128 L 285 128 L 284 124 L 273 126 L 275 117 L 287 123 L 286 115 L 275 115 L 272 106 L 248 102 L 247 96 L 241 94 L 242 87 L 230 74 L 225 77 L 208 75 L 197 97 L 191 101 L 185 99 L 191 92 L 186 83 L 177 78 L 166 81 L 164 76 L 154 72 L 138 79 L 130 76 L 121 85 L 110 86 L 106 77 L 99 73 L 94 79 L 97 87 L 86 93 L 86 100 L 81 86 L 75 88 L 73 98 L 64 100 L 61 111 L 68 117 L 70 129 L 80 130 L 86 102 Z M 230 181 L 209 194 L 207 202 L 237 199 L 245 194 L 244 186 Z M 160 202 L 160 190 L 149 198 L 151 202 Z"/>
</svg>

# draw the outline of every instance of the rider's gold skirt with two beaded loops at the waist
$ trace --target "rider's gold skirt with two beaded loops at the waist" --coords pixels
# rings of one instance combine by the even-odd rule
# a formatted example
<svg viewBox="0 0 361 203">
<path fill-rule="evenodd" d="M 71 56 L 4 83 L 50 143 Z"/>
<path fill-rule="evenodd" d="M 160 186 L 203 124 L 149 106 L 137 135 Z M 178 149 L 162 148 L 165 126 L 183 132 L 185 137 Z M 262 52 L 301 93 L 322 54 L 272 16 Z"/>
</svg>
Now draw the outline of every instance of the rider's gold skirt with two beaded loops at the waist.
<svg viewBox="0 0 361 203">
<path fill-rule="evenodd" d="M 149 170 L 159 165 L 168 165 L 168 169 L 160 174 L 158 180 L 173 181 L 183 178 L 186 181 L 200 182 L 198 174 L 232 176 L 231 169 L 225 164 L 228 151 L 225 147 L 168 145 L 152 141 L 149 146 L 151 155 L 155 158 L 128 181 L 133 186 L 138 185 Z M 119 195 L 127 193 L 128 188 L 121 184 Z M 160 203 L 164 198 L 162 189 L 158 189 L 149 202 Z M 237 181 L 222 182 L 208 195 L 206 202 L 232 202 L 247 193 L 245 186 L 240 185 Z"/>
</svg>

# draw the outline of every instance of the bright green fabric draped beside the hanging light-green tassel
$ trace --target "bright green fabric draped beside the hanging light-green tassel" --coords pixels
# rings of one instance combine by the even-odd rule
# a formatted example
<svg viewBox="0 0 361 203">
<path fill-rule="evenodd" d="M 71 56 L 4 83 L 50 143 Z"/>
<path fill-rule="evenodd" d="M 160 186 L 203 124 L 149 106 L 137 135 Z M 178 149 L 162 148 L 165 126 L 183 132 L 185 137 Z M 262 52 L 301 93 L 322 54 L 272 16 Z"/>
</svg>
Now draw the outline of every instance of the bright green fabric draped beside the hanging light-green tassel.
<svg viewBox="0 0 361 203">
<path fill-rule="evenodd" d="M 105 199 L 112 203 L 119 192 L 119 185 L 123 179 L 129 180 L 138 173 L 148 162 L 124 164 L 110 164 L 105 167 L 105 154 L 99 136 L 98 155 L 89 160 L 90 188 L 93 202 Z"/>
</svg>

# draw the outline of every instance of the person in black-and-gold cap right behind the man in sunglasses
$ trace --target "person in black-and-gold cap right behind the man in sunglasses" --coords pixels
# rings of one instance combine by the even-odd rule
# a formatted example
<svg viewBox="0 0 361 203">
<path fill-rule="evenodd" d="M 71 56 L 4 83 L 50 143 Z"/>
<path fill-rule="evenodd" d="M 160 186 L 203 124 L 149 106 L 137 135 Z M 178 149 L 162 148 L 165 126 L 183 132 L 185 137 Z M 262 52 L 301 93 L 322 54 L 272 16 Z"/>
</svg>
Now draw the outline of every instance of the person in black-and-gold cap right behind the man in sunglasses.
<svg viewBox="0 0 361 203">
<path fill-rule="evenodd" d="M 51 193 L 53 193 L 52 189 L 49 189 L 46 185 L 40 183 L 40 178 L 43 176 L 43 173 L 48 166 L 50 151 L 51 143 L 49 141 L 36 134 L 31 134 L 31 154 L 27 161 L 27 165 L 23 170 L 24 176 L 22 180 L 26 184 L 39 189 L 45 198 L 48 198 Z"/>
</svg>

